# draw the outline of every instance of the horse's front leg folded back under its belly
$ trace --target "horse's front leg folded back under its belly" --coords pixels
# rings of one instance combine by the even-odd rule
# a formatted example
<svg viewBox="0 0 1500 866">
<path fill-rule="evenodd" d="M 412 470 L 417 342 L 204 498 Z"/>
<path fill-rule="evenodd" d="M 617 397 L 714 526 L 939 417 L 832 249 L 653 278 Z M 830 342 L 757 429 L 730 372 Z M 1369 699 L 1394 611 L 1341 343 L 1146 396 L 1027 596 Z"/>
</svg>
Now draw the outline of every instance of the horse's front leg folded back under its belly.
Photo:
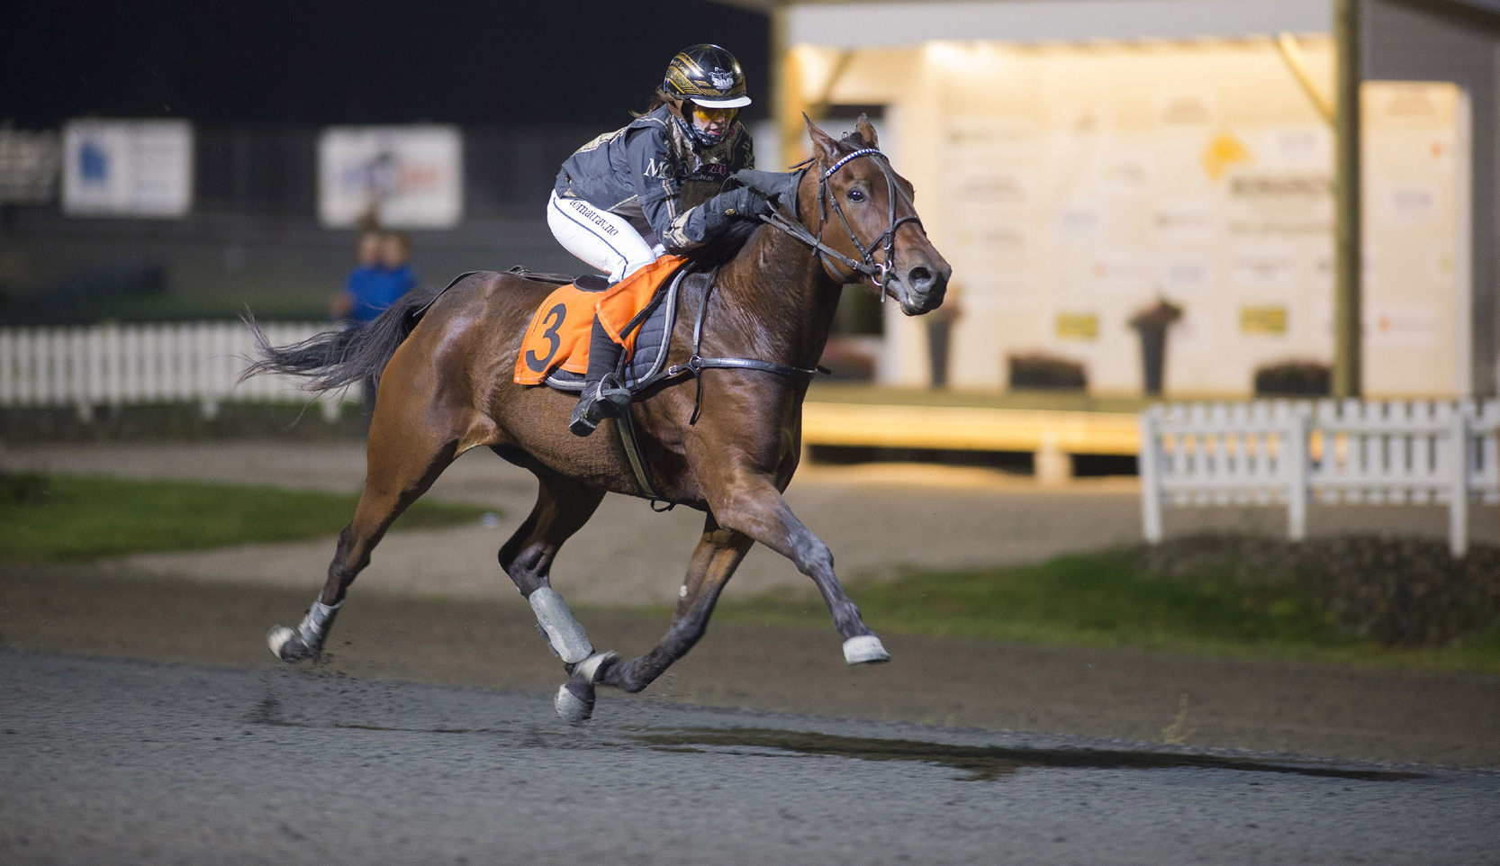
<svg viewBox="0 0 1500 866">
<path fill-rule="evenodd" d="M 572 678 L 558 690 L 558 714 L 570 723 L 582 723 L 592 713 L 596 684 L 639 692 L 660 677 L 672 662 L 686 656 L 704 636 L 708 617 L 718 603 L 718 593 L 753 545 L 754 540 L 748 536 L 726 530 L 710 516 L 704 524 L 704 537 L 699 539 L 688 561 L 687 579 L 682 581 L 668 633 L 651 647 L 651 651 L 628 662 L 618 660 L 615 653 L 590 656 L 573 669 Z"/>
</svg>

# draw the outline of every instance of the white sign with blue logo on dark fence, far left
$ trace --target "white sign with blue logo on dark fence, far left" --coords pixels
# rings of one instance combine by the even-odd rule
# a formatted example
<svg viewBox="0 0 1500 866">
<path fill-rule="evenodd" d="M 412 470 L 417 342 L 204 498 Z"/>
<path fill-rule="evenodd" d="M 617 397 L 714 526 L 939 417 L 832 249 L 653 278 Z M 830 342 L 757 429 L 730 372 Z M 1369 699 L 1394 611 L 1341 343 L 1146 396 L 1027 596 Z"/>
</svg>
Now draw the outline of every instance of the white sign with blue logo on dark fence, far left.
<svg viewBox="0 0 1500 866">
<path fill-rule="evenodd" d="M 184 216 L 192 207 L 186 120 L 70 120 L 63 129 L 63 213 Z"/>
</svg>

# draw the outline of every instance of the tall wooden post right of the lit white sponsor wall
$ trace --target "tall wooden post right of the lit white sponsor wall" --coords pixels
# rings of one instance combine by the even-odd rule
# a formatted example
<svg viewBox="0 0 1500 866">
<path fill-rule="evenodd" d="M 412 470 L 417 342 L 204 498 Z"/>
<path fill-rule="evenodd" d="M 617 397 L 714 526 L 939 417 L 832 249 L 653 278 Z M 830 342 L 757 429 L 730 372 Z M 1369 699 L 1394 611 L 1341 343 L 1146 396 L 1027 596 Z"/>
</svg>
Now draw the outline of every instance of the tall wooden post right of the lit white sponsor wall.
<svg viewBox="0 0 1500 866">
<path fill-rule="evenodd" d="M 1364 393 L 1360 375 L 1359 2 L 1334 0 L 1334 396 Z"/>
</svg>

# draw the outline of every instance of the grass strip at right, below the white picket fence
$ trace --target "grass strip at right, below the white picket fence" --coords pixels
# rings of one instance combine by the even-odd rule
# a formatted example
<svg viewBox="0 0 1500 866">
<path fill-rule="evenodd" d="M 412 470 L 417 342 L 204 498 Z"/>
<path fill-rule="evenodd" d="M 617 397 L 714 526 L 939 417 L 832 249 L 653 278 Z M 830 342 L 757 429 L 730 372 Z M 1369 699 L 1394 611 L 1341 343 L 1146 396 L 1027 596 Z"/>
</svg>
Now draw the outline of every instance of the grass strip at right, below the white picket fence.
<svg viewBox="0 0 1500 866">
<path fill-rule="evenodd" d="M 1341 629 L 1292 581 L 1242 585 L 1143 570 L 1128 549 L 1040 564 L 909 572 L 850 593 L 876 632 L 1186 654 L 1500 674 L 1500 629 L 1436 648 L 1395 648 Z M 720 605 L 718 618 L 830 627 L 816 593 Z"/>
</svg>

